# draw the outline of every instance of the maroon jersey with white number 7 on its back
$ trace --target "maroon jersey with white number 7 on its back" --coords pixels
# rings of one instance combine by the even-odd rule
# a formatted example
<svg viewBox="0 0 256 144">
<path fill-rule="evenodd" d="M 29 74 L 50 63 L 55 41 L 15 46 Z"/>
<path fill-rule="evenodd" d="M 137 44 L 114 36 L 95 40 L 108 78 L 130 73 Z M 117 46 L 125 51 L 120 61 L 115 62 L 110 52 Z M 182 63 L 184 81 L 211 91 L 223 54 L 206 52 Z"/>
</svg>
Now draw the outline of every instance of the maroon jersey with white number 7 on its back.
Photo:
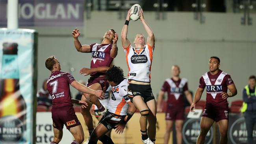
<svg viewBox="0 0 256 144">
<path fill-rule="evenodd" d="M 52 96 L 52 107 L 73 106 L 69 84 L 74 77 L 68 72 L 54 71 L 47 80 L 47 89 Z"/>
</svg>

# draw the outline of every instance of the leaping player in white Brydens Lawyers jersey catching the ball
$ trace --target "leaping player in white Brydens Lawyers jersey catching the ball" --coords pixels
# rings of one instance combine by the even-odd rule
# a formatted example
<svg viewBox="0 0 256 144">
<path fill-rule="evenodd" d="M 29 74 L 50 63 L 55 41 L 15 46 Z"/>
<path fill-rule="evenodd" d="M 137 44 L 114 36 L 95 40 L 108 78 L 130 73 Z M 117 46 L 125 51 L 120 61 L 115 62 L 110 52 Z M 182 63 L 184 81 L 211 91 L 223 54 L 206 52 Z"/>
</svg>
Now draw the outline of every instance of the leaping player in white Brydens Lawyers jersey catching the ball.
<svg viewBox="0 0 256 144">
<path fill-rule="evenodd" d="M 134 103 L 135 107 L 141 113 L 139 120 L 141 138 L 144 144 L 154 144 L 156 141 L 156 100 L 150 86 L 150 70 L 155 39 L 153 31 L 143 17 L 141 7 L 137 7 L 137 10 L 139 10 L 137 11 L 140 15 L 139 18 L 148 34 L 147 43 L 145 43 L 143 34 L 137 34 L 135 36 L 135 47 L 132 47 L 130 41 L 127 39 L 130 16 L 134 15 L 134 13 L 130 13 L 134 9 L 128 11 L 125 24 L 122 28 L 121 40 L 124 52 L 126 52 L 126 63 L 129 69 L 128 80 L 130 84 L 128 86 L 128 95 L 131 102 Z"/>
</svg>

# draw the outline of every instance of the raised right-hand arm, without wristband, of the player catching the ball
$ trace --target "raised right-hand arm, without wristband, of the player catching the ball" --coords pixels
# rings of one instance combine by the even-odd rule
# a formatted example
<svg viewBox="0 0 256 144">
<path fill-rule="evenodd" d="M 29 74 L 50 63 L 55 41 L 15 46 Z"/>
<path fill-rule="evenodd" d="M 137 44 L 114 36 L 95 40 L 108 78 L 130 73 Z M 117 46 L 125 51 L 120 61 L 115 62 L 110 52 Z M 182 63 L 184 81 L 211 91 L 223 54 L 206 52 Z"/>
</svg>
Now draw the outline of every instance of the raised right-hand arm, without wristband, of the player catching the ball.
<svg viewBox="0 0 256 144">
<path fill-rule="evenodd" d="M 142 22 L 142 24 L 143 24 L 145 30 L 146 30 L 147 33 L 148 33 L 147 44 L 148 44 L 149 46 L 154 47 L 154 46 L 155 46 L 155 36 L 154 36 L 154 33 L 153 33 L 152 29 L 150 28 L 150 26 L 147 24 L 147 22 L 146 22 L 145 19 L 144 19 L 143 10 L 142 10 L 142 9 L 139 11 L 139 15 L 140 15 L 139 18 L 140 18 L 140 20 L 141 20 L 141 22 Z"/>
</svg>

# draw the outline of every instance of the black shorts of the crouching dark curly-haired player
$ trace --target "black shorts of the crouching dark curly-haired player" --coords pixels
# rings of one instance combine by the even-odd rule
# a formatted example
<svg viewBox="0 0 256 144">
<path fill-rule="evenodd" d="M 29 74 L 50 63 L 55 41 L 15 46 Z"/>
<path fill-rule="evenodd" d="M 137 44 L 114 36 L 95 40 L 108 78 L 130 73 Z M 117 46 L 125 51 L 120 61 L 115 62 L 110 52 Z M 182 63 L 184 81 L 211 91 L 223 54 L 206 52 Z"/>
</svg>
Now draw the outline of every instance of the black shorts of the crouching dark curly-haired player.
<svg viewBox="0 0 256 144">
<path fill-rule="evenodd" d="M 111 129 L 116 129 L 116 125 L 124 118 L 125 116 L 117 115 L 114 113 L 110 113 L 107 111 L 104 113 L 102 118 L 100 119 L 100 123 L 102 123 L 105 127 L 107 127 L 108 131 Z"/>
</svg>

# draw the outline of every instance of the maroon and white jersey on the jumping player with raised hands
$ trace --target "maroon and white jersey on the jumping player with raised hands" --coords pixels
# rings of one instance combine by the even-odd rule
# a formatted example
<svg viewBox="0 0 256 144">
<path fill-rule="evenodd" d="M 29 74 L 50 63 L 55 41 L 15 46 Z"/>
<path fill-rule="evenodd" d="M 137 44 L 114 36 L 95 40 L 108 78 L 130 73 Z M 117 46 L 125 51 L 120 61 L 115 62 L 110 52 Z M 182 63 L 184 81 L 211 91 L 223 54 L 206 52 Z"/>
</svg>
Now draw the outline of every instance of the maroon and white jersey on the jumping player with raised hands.
<svg viewBox="0 0 256 144">
<path fill-rule="evenodd" d="M 113 58 L 110 56 L 112 44 L 91 44 L 91 68 L 110 66 Z M 100 76 L 104 73 L 94 72 L 91 76 Z"/>
</svg>

